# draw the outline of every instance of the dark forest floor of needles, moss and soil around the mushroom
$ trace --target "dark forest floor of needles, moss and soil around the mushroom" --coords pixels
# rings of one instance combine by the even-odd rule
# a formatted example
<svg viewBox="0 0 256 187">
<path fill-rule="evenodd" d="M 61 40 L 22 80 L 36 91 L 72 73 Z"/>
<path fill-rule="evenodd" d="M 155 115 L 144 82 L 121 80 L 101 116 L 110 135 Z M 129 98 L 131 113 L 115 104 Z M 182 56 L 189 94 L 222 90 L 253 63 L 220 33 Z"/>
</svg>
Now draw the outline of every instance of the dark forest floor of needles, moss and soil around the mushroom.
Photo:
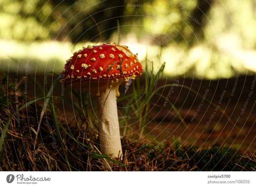
<svg viewBox="0 0 256 187">
<path fill-rule="evenodd" d="M 27 96 L 22 94 L 23 91 L 18 90 L 18 95 L 15 94 L 15 76 L 12 76 L 13 84 L 10 84 L 10 80 L 3 79 L 0 83 L 1 134 L 10 115 L 15 112 L 16 105 L 22 106 L 33 96 L 40 95 L 37 94 L 36 86 L 32 82 L 28 86 L 37 93 L 31 91 Z M 21 80 L 21 77 L 18 79 Z M 133 133 L 132 137 L 124 136 L 122 138 L 124 158 L 117 159 L 113 167 L 108 166 L 106 159 L 95 154 L 94 146 L 99 148 L 97 135 L 90 134 L 91 130 L 74 124 L 74 119 L 71 119 L 72 108 L 67 108 L 65 111 L 66 116 L 70 118 L 68 123 L 63 115 L 57 116 L 63 125 L 60 134 L 65 145 L 64 150 L 61 149 L 60 140 L 54 129 L 54 121 L 48 109 L 47 116 L 44 114 L 34 149 L 43 103 L 31 104 L 11 120 L 0 155 L 0 169 L 2 171 L 255 171 L 256 127 L 253 115 L 256 112 L 255 96 L 252 96 L 246 105 L 246 112 L 240 114 L 248 98 L 252 80 L 253 77 L 250 76 L 241 76 L 237 82 L 235 78 L 217 81 L 179 79 L 179 84 L 197 90 L 201 95 L 204 95 L 205 90 L 208 89 L 206 97 L 216 104 L 225 90 L 220 108 L 225 110 L 227 115 L 219 110 L 214 113 L 216 106 L 210 105 L 205 100 L 198 111 L 202 97 L 196 96 L 191 90 L 177 87 L 174 88 L 171 99 L 184 119 L 184 123 L 181 123 L 171 107 L 162 107 L 159 112 L 159 106 L 163 105 L 164 100 L 155 96 L 151 100 L 153 107 L 148 114 L 151 120 L 145 126 L 145 136 L 139 137 L 138 133 Z M 7 81 L 9 81 L 8 86 Z M 237 86 L 234 94 L 231 94 L 234 90 L 234 82 Z M 168 83 L 173 81 L 160 80 L 158 86 Z M 60 90 L 61 85 L 57 84 L 53 95 L 60 94 Z M 121 94 L 123 91 L 124 88 L 120 87 Z M 162 95 L 167 96 L 168 92 L 168 88 L 164 89 Z M 58 109 L 58 105 L 55 107 L 60 114 L 61 109 Z M 207 121 L 213 113 L 214 116 L 207 126 Z M 49 136 L 49 126 L 52 136 Z M 86 139 L 81 130 L 86 132 Z M 133 130 L 136 131 L 136 128 Z M 78 144 L 68 136 L 67 132 L 83 144 Z"/>
</svg>

